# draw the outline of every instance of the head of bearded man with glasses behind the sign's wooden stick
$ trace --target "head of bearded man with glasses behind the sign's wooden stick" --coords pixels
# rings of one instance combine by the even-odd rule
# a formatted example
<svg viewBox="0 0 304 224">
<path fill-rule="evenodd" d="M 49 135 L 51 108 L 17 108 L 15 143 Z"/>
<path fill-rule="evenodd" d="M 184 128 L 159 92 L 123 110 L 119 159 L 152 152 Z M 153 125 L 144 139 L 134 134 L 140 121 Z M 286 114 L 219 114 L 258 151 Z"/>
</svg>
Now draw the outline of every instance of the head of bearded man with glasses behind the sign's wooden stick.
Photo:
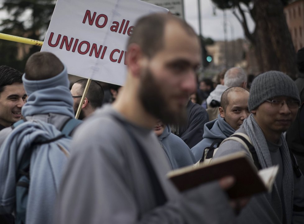
<svg viewBox="0 0 304 224">
<path fill-rule="evenodd" d="M 79 107 L 82 94 L 85 91 L 86 83 L 87 79 L 81 79 L 72 85 L 71 94 L 73 97 L 73 107 L 75 114 Z M 98 107 L 101 107 L 103 100 L 104 89 L 98 82 L 92 80 L 85 100 L 83 101 L 78 119 L 83 120 L 84 118 L 90 116 Z"/>
</svg>

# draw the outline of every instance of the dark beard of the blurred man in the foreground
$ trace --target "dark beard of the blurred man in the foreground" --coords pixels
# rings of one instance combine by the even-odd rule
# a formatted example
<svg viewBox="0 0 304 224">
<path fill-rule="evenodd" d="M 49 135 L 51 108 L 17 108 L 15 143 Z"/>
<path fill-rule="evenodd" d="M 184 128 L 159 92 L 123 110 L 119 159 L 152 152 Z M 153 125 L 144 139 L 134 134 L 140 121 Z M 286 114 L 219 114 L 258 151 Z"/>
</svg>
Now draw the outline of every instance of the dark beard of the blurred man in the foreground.
<svg viewBox="0 0 304 224">
<path fill-rule="evenodd" d="M 180 111 L 174 112 L 166 102 L 166 95 L 163 93 L 162 85 L 155 80 L 149 69 L 144 71 L 139 89 L 139 99 L 145 110 L 155 118 L 163 121 L 164 124 L 183 125 L 187 122 L 186 105 Z"/>
</svg>

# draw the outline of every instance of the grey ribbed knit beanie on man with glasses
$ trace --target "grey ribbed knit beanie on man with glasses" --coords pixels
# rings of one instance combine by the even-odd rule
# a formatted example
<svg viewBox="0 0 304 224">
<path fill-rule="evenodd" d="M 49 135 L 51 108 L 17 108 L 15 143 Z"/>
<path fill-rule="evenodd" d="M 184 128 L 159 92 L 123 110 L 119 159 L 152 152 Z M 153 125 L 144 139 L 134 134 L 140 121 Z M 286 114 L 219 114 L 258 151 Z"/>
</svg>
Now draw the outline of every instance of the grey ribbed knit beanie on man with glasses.
<svg viewBox="0 0 304 224">
<path fill-rule="evenodd" d="M 262 73 L 252 82 L 248 109 L 252 111 L 264 103 L 265 100 L 278 96 L 291 97 L 301 102 L 297 86 L 288 75 L 280 71 Z"/>
</svg>

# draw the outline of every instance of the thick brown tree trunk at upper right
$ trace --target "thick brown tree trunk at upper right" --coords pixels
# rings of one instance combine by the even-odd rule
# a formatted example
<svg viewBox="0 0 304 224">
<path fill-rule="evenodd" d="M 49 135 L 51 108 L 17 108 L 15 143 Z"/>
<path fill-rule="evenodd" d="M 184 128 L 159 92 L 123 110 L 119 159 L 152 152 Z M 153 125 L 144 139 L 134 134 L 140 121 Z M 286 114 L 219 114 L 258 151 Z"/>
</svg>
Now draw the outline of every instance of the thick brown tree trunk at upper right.
<svg viewBox="0 0 304 224">
<path fill-rule="evenodd" d="M 264 71 L 279 70 L 292 79 L 297 74 L 296 54 L 281 0 L 254 0 L 256 48 Z"/>
</svg>

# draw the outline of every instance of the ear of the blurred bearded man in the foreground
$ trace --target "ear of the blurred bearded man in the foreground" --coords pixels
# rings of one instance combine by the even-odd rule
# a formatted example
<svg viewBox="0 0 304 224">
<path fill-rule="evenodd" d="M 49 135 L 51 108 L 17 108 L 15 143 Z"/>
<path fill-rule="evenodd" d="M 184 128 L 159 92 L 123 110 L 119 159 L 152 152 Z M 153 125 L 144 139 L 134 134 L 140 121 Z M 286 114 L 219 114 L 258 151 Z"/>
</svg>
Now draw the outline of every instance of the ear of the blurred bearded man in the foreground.
<svg viewBox="0 0 304 224">
<path fill-rule="evenodd" d="M 131 74 L 134 76 L 140 76 L 140 63 L 143 58 L 142 51 L 140 46 L 136 43 L 131 43 L 128 47 L 127 55 L 127 67 L 131 71 Z"/>
</svg>

